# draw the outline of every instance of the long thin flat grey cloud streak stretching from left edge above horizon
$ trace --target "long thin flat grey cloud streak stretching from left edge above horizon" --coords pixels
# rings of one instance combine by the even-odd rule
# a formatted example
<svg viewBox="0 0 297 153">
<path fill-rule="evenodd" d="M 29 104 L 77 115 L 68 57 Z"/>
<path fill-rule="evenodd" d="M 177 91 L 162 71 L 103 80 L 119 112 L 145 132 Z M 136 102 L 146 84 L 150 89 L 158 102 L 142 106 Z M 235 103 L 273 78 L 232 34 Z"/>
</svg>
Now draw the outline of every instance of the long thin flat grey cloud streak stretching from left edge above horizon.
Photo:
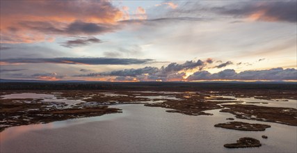
<svg viewBox="0 0 297 153">
<path fill-rule="evenodd" d="M 26 63 L 56 63 L 73 65 L 134 65 L 155 63 L 152 59 L 136 58 L 8 58 L 1 59 L 6 65 Z"/>
</svg>

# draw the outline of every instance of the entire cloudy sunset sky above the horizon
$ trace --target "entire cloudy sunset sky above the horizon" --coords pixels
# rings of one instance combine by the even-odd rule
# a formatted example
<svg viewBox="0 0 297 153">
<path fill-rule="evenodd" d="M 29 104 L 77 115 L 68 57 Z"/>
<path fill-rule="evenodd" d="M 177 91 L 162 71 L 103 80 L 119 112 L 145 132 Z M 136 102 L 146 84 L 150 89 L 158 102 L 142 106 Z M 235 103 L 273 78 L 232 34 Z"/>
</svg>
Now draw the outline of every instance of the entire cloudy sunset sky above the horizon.
<svg viewBox="0 0 297 153">
<path fill-rule="evenodd" d="M 297 1 L 1 0 L 0 78 L 296 81 Z"/>
</svg>

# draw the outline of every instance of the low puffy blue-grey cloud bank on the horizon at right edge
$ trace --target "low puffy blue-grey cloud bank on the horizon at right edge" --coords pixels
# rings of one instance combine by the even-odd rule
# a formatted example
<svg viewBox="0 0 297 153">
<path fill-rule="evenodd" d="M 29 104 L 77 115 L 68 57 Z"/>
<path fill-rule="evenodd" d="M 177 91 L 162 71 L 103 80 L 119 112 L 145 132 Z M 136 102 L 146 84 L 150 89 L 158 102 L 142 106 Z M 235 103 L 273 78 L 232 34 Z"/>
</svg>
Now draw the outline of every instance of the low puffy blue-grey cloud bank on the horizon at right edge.
<svg viewBox="0 0 297 153">
<path fill-rule="evenodd" d="M 190 75 L 188 81 L 200 80 L 297 80 L 296 69 L 273 68 L 270 70 L 243 71 L 236 73 L 234 70 L 223 70 L 211 74 L 207 71 L 199 71 Z"/>
</svg>

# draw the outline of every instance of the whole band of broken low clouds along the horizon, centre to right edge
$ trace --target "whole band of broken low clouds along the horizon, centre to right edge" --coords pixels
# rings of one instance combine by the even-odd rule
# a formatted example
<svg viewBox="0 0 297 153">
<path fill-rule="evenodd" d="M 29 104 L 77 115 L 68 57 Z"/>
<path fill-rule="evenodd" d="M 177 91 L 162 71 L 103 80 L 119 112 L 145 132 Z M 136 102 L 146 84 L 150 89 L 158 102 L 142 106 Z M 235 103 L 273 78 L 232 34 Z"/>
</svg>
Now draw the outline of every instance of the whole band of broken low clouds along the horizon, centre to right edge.
<svg viewBox="0 0 297 153">
<path fill-rule="evenodd" d="M 209 59 L 207 61 L 209 61 Z M 203 68 L 207 66 L 207 61 L 186 61 L 183 64 L 170 63 L 161 68 L 143 67 L 111 72 L 79 74 L 74 75 L 73 77 L 113 78 L 109 79 L 109 81 L 297 80 L 296 69 L 292 68 L 284 70 L 281 67 L 270 70 L 243 71 L 239 73 L 236 73 L 235 70 L 227 69 L 211 74 L 210 72 L 203 70 Z M 195 70 L 195 72 L 187 77 L 186 70 Z"/>
</svg>

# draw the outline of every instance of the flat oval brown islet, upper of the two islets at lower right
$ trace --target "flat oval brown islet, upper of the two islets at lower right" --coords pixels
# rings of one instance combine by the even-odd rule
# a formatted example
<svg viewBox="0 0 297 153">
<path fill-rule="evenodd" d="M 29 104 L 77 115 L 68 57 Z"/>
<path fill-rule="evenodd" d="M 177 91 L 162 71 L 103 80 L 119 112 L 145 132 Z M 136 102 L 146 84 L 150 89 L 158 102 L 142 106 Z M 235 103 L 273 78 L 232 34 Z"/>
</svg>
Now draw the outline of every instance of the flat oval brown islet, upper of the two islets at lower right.
<svg viewBox="0 0 297 153">
<path fill-rule="evenodd" d="M 236 129 L 241 131 L 264 131 L 266 128 L 271 127 L 268 124 L 251 124 L 248 122 L 225 122 L 215 124 L 214 127 L 222 127 L 225 129 Z"/>
</svg>

